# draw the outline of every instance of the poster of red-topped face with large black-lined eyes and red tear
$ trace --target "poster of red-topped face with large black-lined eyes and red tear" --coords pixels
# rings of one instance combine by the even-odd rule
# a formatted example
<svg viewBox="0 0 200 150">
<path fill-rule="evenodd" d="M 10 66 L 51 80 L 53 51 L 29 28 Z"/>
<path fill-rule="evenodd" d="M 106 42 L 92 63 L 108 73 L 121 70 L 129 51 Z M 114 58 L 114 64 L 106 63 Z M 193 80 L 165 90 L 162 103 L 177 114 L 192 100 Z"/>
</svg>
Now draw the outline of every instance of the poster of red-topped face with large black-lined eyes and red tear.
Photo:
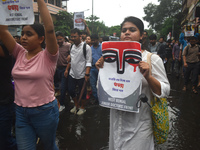
<svg viewBox="0 0 200 150">
<path fill-rule="evenodd" d="M 104 66 L 99 70 L 99 105 L 138 113 L 136 104 L 142 85 L 140 43 L 103 42 L 102 54 Z"/>
</svg>

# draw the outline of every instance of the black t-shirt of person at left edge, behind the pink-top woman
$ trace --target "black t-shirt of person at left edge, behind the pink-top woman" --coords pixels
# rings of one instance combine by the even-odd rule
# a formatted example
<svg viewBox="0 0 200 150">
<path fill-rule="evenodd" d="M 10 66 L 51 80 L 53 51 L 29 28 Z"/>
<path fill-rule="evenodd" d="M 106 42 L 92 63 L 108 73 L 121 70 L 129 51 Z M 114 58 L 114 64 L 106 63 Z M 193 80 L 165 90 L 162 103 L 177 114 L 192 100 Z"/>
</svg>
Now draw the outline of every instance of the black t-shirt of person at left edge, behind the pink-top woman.
<svg viewBox="0 0 200 150">
<path fill-rule="evenodd" d="M 0 105 L 10 104 L 14 101 L 14 89 L 11 81 L 12 56 L 0 43 L 5 56 L 0 56 Z"/>
</svg>

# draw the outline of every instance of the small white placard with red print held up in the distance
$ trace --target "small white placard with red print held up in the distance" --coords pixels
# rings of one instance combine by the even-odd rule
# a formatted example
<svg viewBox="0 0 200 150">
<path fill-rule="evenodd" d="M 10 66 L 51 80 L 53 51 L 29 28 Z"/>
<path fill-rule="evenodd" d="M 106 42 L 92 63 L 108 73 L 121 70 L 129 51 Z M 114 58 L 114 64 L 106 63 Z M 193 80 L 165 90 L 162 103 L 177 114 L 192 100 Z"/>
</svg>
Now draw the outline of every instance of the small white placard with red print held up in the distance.
<svg viewBox="0 0 200 150">
<path fill-rule="evenodd" d="M 79 30 L 85 29 L 85 24 L 83 23 L 84 12 L 75 12 L 74 13 L 74 28 L 78 28 Z"/>
</svg>

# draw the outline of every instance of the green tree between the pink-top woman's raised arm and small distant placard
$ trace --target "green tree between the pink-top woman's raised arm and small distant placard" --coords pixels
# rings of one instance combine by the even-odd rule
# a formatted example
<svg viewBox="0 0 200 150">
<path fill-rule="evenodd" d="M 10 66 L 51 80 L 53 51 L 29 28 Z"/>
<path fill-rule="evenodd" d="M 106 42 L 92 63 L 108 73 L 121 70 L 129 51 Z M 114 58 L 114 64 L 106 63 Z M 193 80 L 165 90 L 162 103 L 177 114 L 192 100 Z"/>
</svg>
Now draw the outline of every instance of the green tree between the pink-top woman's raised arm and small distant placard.
<svg viewBox="0 0 200 150">
<path fill-rule="evenodd" d="M 66 11 L 59 11 L 54 22 L 55 31 L 61 31 L 64 35 L 70 35 L 73 28 L 73 15 Z"/>
</svg>

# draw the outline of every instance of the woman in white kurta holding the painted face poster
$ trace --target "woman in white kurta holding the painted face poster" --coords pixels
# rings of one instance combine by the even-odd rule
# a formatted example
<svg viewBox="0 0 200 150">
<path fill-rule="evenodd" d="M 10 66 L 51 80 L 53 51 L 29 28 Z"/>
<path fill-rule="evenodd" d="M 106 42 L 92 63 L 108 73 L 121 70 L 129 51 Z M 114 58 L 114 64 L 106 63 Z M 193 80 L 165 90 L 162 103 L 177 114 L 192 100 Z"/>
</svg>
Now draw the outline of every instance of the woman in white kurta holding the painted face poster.
<svg viewBox="0 0 200 150">
<path fill-rule="evenodd" d="M 127 17 L 121 24 L 120 39 L 121 41 L 125 42 L 141 42 L 143 32 L 144 25 L 140 19 L 136 17 Z M 141 93 L 144 93 L 147 96 L 149 103 L 151 93 L 159 98 L 167 97 L 170 92 L 170 85 L 161 58 L 158 55 L 152 55 L 151 75 L 149 74 L 150 66 L 147 63 L 147 54 L 149 52 L 146 50 L 141 50 L 141 52 L 142 61 L 139 62 L 139 70 L 143 75 L 141 78 Z M 112 59 L 112 57 L 110 58 Z M 104 59 L 105 58 L 103 57 L 100 58 L 97 61 L 96 66 L 101 68 L 103 66 Z M 119 68 L 115 69 L 118 70 Z M 140 80 L 140 78 L 138 78 L 138 80 Z M 132 86 L 134 88 L 135 85 Z M 141 104 L 138 112 L 128 112 L 112 108 L 110 109 L 109 149 L 154 150 L 151 109 L 148 105 Z"/>
</svg>

